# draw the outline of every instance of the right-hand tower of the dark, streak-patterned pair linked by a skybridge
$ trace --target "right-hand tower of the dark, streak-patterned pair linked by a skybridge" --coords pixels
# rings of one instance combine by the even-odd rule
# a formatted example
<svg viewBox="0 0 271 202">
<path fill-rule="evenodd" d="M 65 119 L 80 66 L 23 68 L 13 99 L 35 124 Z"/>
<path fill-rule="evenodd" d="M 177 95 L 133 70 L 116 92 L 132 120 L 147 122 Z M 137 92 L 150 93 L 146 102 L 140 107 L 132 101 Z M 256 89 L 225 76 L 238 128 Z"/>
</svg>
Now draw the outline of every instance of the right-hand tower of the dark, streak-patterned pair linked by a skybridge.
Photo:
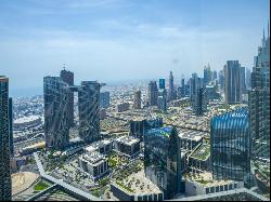
<svg viewBox="0 0 271 202">
<path fill-rule="evenodd" d="M 79 136 L 87 143 L 100 138 L 100 83 L 82 81 L 78 87 Z"/>
</svg>

